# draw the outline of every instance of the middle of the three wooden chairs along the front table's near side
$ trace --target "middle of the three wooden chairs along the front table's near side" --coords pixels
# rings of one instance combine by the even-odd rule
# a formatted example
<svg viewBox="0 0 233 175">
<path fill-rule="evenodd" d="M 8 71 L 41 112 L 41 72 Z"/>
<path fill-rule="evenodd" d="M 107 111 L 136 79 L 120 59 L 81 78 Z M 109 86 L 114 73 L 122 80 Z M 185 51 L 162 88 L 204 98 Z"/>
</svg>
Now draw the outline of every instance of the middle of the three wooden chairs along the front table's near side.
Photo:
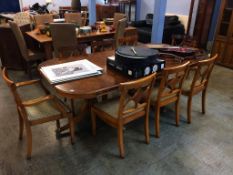
<svg viewBox="0 0 233 175">
<path fill-rule="evenodd" d="M 164 68 L 160 84 L 151 93 L 151 106 L 155 109 L 155 136 L 160 136 L 160 108 L 175 103 L 176 126 L 179 126 L 179 101 L 183 80 L 188 70 L 189 61 L 170 68 Z"/>
</svg>

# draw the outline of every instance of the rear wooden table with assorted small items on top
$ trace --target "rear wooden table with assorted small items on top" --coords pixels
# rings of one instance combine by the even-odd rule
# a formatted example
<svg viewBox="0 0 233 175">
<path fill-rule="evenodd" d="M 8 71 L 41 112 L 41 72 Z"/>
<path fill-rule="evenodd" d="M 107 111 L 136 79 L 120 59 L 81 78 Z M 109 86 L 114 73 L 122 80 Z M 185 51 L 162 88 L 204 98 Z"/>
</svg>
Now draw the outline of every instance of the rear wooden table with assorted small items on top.
<svg viewBox="0 0 233 175">
<path fill-rule="evenodd" d="M 125 33 L 137 33 L 135 27 L 126 27 Z M 32 31 L 26 32 L 26 35 L 40 44 L 45 52 L 45 59 L 53 58 L 53 48 L 52 48 L 52 37 L 46 34 L 41 34 L 40 30 L 34 29 Z M 107 30 L 100 32 L 99 30 L 93 30 L 89 33 L 77 33 L 77 42 L 78 43 L 89 43 L 92 41 L 99 41 L 103 39 L 114 38 L 115 30 L 110 30 L 110 27 L 107 27 Z"/>
</svg>

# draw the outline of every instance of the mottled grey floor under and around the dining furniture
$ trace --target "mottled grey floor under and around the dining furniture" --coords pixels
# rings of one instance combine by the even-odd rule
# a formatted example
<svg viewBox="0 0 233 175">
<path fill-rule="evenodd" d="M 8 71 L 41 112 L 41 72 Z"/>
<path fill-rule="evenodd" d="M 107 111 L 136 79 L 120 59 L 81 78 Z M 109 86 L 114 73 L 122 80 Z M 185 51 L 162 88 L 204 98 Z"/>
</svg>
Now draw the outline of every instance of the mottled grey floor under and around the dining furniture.
<svg viewBox="0 0 233 175">
<path fill-rule="evenodd" d="M 11 72 L 24 79 L 22 72 Z M 33 128 L 32 160 L 25 159 L 26 137 L 18 140 L 18 116 L 8 87 L 0 78 L 0 175 L 5 174 L 233 174 L 233 70 L 215 66 L 207 94 L 207 113 L 201 98 L 193 101 L 193 121 L 186 123 L 186 97 L 181 100 L 181 123 L 175 127 L 172 106 L 161 113 L 161 137 L 144 142 L 143 120 L 126 126 L 125 159 L 118 157 L 116 130 L 98 122 L 91 135 L 88 118 L 78 126 L 75 145 L 69 137 L 56 139 L 55 123 Z M 25 93 L 33 93 L 25 91 Z"/>
</svg>

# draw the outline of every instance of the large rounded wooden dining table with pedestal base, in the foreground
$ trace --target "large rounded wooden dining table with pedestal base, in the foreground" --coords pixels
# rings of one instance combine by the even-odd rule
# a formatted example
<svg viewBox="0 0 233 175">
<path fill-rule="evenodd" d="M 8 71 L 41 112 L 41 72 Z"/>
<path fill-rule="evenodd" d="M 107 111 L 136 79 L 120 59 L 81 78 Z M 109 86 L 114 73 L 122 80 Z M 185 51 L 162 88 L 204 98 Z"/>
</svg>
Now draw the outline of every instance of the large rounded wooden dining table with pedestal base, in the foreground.
<svg viewBox="0 0 233 175">
<path fill-rule="evenodd" d="M 154 45 L 155 46 L 155 45 Z M 151 45 L 144 45 L 142 47 L 152 47 Z M 101 96 L 103 94 L 107 94 L 108 92 L 112 90 L 117 90 L 121 83 L 125 83 L 128 81 L 133 80 L 131 77 L 126 76 L 119 71 L 116 71 L 109 67 L 107 65 L 107 58 L 110 56 L 115 55 L 114 50 L 109 51 L 103 51 L 103 52 L 97 52 L 90 55 L 85 56 L 75 56 L 70 57 L 67 59 L 50 59 L 47 60 L 39 65 L 39 72 L 42 76 L 42 79 L 44 79 L 49 86 L 53 90 L 56 91 L 56 93 L 65 99 L 68 99 L 71 101 L 71 111 L 74 116 L 74 121 L 76 123 L 80 122 L 84 115 L 87 113 L 87 111 L 90 111 L 90 103 L 92 103 L 92 100 L 95 99 L 98 96 Z M 205 59 L 208 57 L 200 57 L 200 58 L 194 58 L 190 57 L 187 58 L 188 61 L 191 61 L 190 64 L 194 64 L 200 59 Z M 71 80 L 66 82 L 61 82 L 57 84 L 50 84 L 48 78 L 43 74 L 41 71 L 42 67 L 51 66 L 51 65 L 57 65 L 77 60 L 87 59 L 90 62 L 96 64 L 97 66 L 101 67 L 103 69 L 103 72 L 101 75 L 87 77 L 83 79 L 77 79 L 77 80 Z M 183 64 L 186 60 L 177 60 L 177 59 L 170 59 L 170 58 L 164 58 L 165 68 L 177 66 L 179 64 Z M 81 111 L 78 114 L 75 114 L 75 107 L 74 107 L 74 100 L 76 99 L 83 99 L 88 101 L 86 103 Z M 89 103 L 90 102 L 90 103 Z M 66 126 L 67 128 L 67 126 Z"/>
</svg>

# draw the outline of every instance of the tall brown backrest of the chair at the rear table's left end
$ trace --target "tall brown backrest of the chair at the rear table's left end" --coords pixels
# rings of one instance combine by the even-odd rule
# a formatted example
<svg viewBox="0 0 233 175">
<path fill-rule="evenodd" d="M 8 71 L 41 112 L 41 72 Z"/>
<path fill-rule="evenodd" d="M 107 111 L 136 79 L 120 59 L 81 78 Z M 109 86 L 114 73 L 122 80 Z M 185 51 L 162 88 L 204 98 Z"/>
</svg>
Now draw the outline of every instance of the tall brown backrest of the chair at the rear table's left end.
<svg viewBox="0 0 233 175">
<path fill-rule="evenodd" d="M 9 24 L 10 24 L 10 27 L 11 27 L 14 35 L 15 35 L 20 52 L 21 52 L 23 58 L 25 60 L 27 60 L 28 59 L 28 49 L 27 49 L 25 39 L 23 37 L 23 33 L 21 32 L 19 26 L 15 22 L 9 21 Z"/>
</svg>

